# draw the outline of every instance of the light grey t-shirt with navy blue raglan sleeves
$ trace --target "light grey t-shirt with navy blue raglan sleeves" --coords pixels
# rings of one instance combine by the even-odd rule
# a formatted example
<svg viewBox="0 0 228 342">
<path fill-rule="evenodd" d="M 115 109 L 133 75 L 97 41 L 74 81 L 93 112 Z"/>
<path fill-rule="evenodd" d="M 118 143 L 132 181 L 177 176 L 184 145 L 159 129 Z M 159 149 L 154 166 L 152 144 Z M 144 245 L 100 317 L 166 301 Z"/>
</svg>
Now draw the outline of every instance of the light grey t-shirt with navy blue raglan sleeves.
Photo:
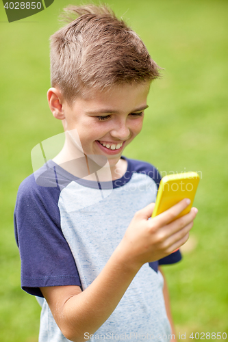
<svg viewBox="0 0 228 342">
<path fill-rule="evenodd" d="M 136 211 L 155 202 L 161 179 L 157 169 L 122 158 L 127 171 L 116 181 L 100 182 L 99 172 L 97 182 L 79 179 L 49 160 L 18 189 L 14 226 L 21 287 L 42 301 L 39 342 L 68 341 L 55 324 L 40 287 L 78 285 L 84 291 L 110 259 Z M 91 339 L 130 336 L 137 341 L 141 335 L 153 341 L 168 339 L 170 324 L 158 265 L 180 259 L 177 251 L 144 264 Z"/>
</svg>

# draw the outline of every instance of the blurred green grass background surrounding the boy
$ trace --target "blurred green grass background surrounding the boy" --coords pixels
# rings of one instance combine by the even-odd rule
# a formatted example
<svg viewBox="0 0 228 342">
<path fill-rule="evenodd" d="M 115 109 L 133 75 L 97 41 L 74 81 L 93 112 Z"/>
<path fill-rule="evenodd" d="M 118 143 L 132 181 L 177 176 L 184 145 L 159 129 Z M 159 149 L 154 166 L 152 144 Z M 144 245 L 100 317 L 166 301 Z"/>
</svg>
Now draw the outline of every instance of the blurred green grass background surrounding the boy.
<svg viewBox="0 0 228 342">
<path fill-rule="evenodd" d="M 40 307 L 20 287 L 13 211 L 18 185 L 32 172 L 31 149 L 62 132 L 47 104 L 49 36 L 60 28 L 58 15 L 69 3 L 80 4 L 55 0 L 46 10 L 14 23 L 8 23 L 0 4 L 3 342 L 38 341 Z M 164 68 L 163 78 L 152 84 L 142 133 L 124 155 L 153 163 L 162 175 L 197 171 L 201 176 L 194 201 L 199 213 L 182 249 L 183 261 L 164 267 L 177 335 L 186 332 L 186 341 L 192 341 L 192 332 L 194 337 L 195 332 L 228 334 L 228 2 L 107 3 Z"/>
</svg>

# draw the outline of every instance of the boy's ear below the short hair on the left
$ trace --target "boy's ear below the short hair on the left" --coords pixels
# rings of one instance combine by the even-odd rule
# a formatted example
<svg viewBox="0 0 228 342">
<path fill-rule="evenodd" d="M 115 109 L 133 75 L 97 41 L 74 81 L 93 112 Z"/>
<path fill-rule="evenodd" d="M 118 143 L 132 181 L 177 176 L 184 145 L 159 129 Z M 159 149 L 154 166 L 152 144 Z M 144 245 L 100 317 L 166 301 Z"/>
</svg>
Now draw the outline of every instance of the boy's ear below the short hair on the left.
<svg viewBox="0 0 228 342">
<path fill-rule="evenodd" d="M 47 91 L 47 101 L 56 119 L 63 120 L 65 118 L 62 108 L 62 94 L 57 88 L 50 88 Z"/>
</svg>

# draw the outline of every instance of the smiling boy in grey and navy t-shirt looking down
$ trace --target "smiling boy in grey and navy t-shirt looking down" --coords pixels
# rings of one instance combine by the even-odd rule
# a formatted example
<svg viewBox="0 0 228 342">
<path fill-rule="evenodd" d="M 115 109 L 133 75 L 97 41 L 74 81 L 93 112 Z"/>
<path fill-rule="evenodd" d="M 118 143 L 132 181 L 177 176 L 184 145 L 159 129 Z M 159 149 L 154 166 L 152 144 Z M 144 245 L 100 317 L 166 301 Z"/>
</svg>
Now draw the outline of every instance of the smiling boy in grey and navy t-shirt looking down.
<svg viewBox="0 0 228 342">
<path fill-rule="evenodd" d="M 159 66 L 105 6 L 68 10 L 79 17 L 51 37 L 47 93 L 65 144 L 23 181 L 15 208 L 22 288 L 42 304 L 39 341 L 174 340 L 160 265 L 181 259 L 173 251 L 197 209 L 170 223 L 186 199 L 149 220 L 160 174 L 122 157 Z"/>
</svg>

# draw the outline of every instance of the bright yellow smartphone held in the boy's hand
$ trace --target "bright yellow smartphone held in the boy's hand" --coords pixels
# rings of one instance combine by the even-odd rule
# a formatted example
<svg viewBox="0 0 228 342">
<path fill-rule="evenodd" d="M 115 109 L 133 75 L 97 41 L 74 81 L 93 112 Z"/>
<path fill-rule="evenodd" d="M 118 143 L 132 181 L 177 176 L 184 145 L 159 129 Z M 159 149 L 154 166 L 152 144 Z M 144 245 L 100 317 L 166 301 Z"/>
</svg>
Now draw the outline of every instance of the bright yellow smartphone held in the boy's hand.
<svg viewBox="0 0 228 342">
<path fill-rule="evenodd" d="M 189 213 L 192 208 L 194 196 L 197 192 L 198 184 L 199 174 L 197 174 L 197 172 L 183 172 L 164 176 L 160 181 L 157 191 L 157 198 L 152 218 L 155 218 L 155 216 L 163 213 L 163 211 L 173 207 L 173 205 L 176 205 L 178 202 L 183 200 L 183 198 L 189 198 L 191 200 L 190 205 L 181 211 L 175 220 L 186 215 L 186 213 Z"/>
</svg>

